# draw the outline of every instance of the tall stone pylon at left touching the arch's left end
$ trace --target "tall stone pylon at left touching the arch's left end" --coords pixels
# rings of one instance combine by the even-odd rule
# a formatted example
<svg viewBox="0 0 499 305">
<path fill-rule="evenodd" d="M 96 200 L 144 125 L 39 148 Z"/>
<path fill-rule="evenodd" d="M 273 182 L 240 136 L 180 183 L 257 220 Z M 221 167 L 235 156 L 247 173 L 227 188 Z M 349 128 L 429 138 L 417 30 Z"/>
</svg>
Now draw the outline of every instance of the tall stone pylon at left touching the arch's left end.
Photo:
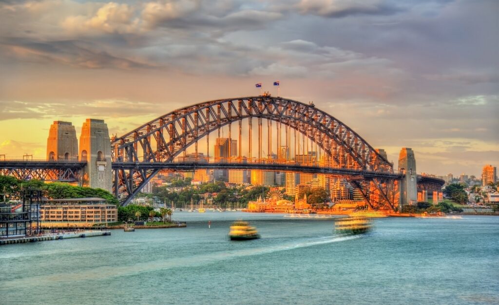
<svg viewBox="0 0 499 305">
<path fill-rule="evenodd" d="M 112 192 L 111 145 L 104 120 L 87 119 L 83 123 L 80 160 L 87 161 L 83 169 L 83 186 Z"/>
</svg>

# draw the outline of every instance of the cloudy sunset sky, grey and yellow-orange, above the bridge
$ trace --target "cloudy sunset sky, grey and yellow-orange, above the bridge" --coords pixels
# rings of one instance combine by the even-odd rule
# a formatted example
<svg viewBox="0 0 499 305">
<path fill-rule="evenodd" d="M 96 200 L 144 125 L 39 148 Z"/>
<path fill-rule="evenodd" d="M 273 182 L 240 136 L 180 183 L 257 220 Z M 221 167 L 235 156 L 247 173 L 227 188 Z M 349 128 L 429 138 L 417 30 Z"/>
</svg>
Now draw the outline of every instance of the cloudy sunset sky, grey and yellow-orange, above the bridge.
<svg viewBox="0 0 499 305">
<path fill-rule="evenodd" d="M 0 0 L 0 154 L 45 158 L 52 121 L 118 136 L 177 108 L 308 102 L 395 162 L 499 166 L 497 0 Z"/>
</svg>

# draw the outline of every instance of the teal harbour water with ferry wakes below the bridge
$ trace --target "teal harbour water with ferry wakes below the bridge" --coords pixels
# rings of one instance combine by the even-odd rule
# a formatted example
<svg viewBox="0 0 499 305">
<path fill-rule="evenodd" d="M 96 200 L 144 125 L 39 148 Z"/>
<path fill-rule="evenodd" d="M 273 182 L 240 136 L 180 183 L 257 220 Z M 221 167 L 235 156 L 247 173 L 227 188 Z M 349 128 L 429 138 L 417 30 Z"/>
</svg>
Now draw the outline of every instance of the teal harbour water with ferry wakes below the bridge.
<svg viewBox="0 0 499 305">
<path fill-rule="evenodd" d="M 499 304 L 499 218 L 175 212 L 187 228 L 0 247 L 1 304 Z M 230 242 L 245 219 L 261 239 Z M 208 229 L 211 221 L 211 229 Z"/>
</svg>

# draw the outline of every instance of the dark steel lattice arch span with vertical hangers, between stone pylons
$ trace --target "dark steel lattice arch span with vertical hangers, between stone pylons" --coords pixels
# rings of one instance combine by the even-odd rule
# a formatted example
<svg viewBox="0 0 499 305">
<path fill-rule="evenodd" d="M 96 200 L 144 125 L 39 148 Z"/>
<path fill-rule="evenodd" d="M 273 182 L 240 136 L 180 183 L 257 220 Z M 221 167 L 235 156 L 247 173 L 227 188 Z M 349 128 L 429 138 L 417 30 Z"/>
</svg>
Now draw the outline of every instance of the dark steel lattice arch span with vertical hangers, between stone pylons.
<svg viewBox="0 0 499 305">
<path fill-rule="evenodd" d="M 257 158 L 252 156 L 253 119 L 258 127 Z M 303 164 L 289 160 L 271 160 L 262 157 L 262 120 L 267 130 L 276 131 L 277 147 L 284 142 L 291 144 L 294 133 L 296 155 L 296 133 L 302 137 L 302 152 L 307 145 L 315 145 L 315 151 L 323 153 L 320 162 Z M 248 158 L 242 156 L 242 126 L 248 122 Z M 272 127 L 272 122 L 275 127 Z M 233 131 L 233 124 L 237 130 Z M 217 163 L 198 161 L 199 141 L 206 138 L 209 149 L 210 133 L 228 126 L 229 139 L 232 132 L 239 137 L 239 156 Z M 283 139 L 282 130 L 285 130 Z M 272 134 L 268 133 L 267 148 L 272 147 Z M 175 162 L 181 154 L 194 146 L 195 162 Z M 269 95 L 213 100 L 177 109 L 158 117 L 135 130 L 111 139 L 113 161 L 113 192 L 123 205 L 130 200 L 161 169 L 189 170 L 196 168 L 246 168 L 302 173 L 324 173 L 341 175 L 357 187 L 372 209 L 394 210 L 398 205 L 398 181 L 402 175 L 394 173 L 393 164 L 380 155 L 354 130 L 344 123 L 316 108 L 313 103 Z M 208 150 L 209 151 L 209 150 Z M 231 155 L 231 154 L 229 154 Z M 208 156 L 209 158 L 209 156 Z M 184 159 L 186 160 L 186 159 Z"/>
</svg>

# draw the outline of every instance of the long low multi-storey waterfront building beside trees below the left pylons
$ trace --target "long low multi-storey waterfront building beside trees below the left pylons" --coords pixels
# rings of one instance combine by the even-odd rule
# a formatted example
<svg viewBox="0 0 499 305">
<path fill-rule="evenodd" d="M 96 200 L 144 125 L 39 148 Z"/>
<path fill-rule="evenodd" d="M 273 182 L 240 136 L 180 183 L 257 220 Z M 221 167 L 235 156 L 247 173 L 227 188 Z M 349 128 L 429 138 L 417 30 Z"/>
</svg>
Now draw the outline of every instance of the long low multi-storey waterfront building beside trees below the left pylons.
<svg viewBox="0 0 499 305">
<path fill-rule="evenodd" d="M 91 227 L 117 220 L 118 209 L 103 198 L 43 199 L 40 205 L 42 228 Z"/>
</svg>

